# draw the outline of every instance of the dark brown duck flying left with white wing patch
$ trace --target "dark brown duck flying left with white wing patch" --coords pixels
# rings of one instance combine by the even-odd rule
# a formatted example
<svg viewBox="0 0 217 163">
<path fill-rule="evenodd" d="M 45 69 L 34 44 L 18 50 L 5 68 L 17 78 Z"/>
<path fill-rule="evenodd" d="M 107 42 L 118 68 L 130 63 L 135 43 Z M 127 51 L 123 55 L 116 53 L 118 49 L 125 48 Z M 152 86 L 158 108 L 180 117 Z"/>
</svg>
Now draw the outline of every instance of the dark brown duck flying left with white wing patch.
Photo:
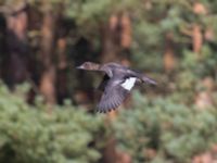
<svg viewBox="0 0 217 163">
<path fill-rule="evenodd" d="M 102 91 L 100 102 L 97 105 L 97 112 L 100 113 L 116 110 L 129 96 L 136 84 L 156 85 L 154 79 L 144 74 L 115 62 L 99 64 L 88 61 L 76 68 L 104 73 L 104 77 L 98 87 Z"/>
</svg>

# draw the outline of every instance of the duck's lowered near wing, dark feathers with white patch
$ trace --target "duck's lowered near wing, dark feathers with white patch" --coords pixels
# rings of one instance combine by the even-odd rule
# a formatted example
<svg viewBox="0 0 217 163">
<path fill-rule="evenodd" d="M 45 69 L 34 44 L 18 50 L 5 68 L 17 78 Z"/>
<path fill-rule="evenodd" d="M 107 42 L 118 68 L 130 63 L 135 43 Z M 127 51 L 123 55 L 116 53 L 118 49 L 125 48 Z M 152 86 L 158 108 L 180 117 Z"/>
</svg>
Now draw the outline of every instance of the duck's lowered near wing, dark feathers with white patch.
<svg viewBox="0 0 217 163">
<path fill-rule="evenodd" d="M 127 98 L 130 90 L 135 86 L 136 78 L 130 77 L 123 79 L 122 82 L 108 80 L 105 90 L 98 104 L 98 112 L 106 113 L 117 109 L 123 101 Z"/>
</svg>

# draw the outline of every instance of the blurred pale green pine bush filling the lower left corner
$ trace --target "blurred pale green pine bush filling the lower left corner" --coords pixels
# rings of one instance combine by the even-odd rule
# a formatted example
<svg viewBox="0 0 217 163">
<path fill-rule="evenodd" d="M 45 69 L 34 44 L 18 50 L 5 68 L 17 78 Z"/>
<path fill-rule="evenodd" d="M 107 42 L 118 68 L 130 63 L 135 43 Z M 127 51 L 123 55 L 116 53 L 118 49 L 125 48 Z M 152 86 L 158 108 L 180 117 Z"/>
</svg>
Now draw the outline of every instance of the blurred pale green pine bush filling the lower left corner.
<svg viewBox="0 0 217 163">
<path fill-rule="evenodd" d="M 21 89 L 12 95 L 0 86 L 0 162 L 90 163 L 100 159 L 105 138 L 100 116 L 67 104 L 49 113 L 41 102 L 26 104 L 22 95 Z"/>
</svg>

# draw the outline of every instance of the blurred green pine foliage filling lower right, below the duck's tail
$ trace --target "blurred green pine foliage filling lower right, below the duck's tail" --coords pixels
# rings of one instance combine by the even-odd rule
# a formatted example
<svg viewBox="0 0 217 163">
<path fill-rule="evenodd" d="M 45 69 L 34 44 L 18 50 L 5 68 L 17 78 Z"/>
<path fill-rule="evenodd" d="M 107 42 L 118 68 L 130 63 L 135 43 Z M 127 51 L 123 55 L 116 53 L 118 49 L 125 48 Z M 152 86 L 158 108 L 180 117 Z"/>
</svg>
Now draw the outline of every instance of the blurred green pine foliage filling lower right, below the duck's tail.
<svg viewBox="0 0 217 163">
<path fill-rule="evenodd" d="M 216 142 L 216 110 L 200 112 L 170 98 L 148 100 L 135 93 L 133 110 L 120 112 L 113 126 L 118 148 L 133 162 L 190 162 Z M 149 156 L 150 149 L 156 152 L 154 158 Z"/>
</svg>

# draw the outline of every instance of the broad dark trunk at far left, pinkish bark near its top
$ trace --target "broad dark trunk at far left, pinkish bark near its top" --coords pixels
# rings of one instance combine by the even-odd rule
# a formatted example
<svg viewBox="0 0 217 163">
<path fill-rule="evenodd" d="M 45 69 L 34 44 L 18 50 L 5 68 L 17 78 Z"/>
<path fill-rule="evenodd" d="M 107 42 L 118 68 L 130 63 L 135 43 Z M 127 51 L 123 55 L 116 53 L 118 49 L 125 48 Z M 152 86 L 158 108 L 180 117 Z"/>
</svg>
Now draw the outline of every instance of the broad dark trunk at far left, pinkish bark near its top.
<svg viewBox="0 0 217 163">
<path fill-rule="evenodd" d="M 28 45 L 27 45 L 27 8 L 12 9 L 5 14 L 7 20 L 7 51 L 4 61 L 4 77 L 7 84 L 13 88 L 28 75 Z"/>
</svg>

